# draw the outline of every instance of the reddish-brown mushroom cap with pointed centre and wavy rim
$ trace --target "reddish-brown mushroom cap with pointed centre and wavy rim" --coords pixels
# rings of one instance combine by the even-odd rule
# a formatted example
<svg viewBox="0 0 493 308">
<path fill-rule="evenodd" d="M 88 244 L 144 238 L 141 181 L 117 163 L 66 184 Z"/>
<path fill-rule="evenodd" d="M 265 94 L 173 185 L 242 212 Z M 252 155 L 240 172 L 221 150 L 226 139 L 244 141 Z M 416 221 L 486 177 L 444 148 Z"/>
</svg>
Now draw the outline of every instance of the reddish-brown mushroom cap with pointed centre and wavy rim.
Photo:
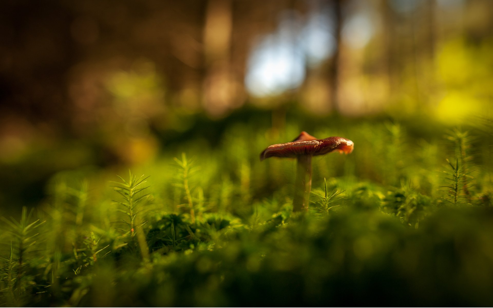
<svg viewBox="0 0 493 308">
<path fill-rule="evenodd" d="M 260 153 L 260 160 L 269 157 L 298 157 L 303 155 L 317 156 L 330 152 L 349 154 L 354 148 L 354 143 L 343 137 L 328 137 L 317 139 L 307 132 L 301 132 L 291 142 L 273 144 Z"/>
</svg>

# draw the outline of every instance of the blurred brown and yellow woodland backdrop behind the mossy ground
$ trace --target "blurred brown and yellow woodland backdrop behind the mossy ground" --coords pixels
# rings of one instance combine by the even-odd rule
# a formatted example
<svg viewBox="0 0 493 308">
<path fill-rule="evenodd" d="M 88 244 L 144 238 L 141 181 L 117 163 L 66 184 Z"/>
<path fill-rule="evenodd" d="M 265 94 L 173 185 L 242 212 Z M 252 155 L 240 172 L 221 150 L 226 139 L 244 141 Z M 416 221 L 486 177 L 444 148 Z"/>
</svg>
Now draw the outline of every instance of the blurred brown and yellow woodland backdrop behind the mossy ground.
<svg viewBox="0 0 493 308">
<path fill-rule="evenodd" d="M 153 166 L 249 129 L 267 134 L 256 151 L 324 124 L 440 135 L 491 118 L 492 6 L 2 0 L 1 211 L 38 205 L 59 171 Z"/>
</svg>

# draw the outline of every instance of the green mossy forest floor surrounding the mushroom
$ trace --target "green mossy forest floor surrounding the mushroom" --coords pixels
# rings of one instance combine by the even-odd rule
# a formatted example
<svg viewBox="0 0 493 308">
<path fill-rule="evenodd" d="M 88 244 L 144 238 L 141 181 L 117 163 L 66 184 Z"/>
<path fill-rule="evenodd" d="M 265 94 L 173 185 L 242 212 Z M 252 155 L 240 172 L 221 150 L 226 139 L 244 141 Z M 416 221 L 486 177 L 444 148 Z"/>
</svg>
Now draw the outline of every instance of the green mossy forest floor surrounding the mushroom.
<svg viewBox="0 0 493 308">
<path fill-rule="evenodd" d="M 53 176 L 34 212 L 2 220 L 2 306 L 493 305 L 488 127 L 314 125 L 355 146 L 314 159 L 305 214 L 291 212 L 295 161 L 258 159 L 305 127 L 255 127 L 122 178 Z"/>
</svg>

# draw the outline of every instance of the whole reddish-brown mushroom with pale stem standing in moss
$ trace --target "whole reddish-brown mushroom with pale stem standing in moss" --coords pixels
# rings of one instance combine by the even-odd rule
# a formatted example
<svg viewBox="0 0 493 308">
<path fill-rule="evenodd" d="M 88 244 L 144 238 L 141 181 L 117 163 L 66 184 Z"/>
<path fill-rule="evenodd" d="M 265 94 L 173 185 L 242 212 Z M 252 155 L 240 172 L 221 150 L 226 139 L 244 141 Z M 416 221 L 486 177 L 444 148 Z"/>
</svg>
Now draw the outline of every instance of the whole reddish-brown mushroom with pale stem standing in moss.
<svg viewBox="0 0 493 308">
<path fill-rule="evenodd" d="M 349 154 L 354 143 L 343 137 L 317 139 L 307 132 L 301 132 L 291 142 L 273 144 L 260 153 L 260 161 L 269 157 L 296 158 L 296 179 L 294 183 L 293 212 L 307 210 L 312 189 L 312 156 L 330 152 Z"/>
</svg>

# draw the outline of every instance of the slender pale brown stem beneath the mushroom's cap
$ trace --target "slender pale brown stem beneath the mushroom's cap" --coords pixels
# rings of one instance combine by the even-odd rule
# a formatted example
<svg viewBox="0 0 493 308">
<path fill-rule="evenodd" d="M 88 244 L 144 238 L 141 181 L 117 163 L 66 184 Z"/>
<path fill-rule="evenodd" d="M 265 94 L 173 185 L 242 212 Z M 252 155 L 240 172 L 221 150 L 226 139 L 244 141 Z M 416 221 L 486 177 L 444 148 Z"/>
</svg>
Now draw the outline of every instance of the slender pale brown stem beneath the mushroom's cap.
<svg viewBox="0 0 493 308">
<path fill-rule="evenodd" d="M 300 155 L 296 158 L 296 161 L 293 212 L 308 210 L 310 191 L 312 189 L 312 156 Z"/>
</svg>

